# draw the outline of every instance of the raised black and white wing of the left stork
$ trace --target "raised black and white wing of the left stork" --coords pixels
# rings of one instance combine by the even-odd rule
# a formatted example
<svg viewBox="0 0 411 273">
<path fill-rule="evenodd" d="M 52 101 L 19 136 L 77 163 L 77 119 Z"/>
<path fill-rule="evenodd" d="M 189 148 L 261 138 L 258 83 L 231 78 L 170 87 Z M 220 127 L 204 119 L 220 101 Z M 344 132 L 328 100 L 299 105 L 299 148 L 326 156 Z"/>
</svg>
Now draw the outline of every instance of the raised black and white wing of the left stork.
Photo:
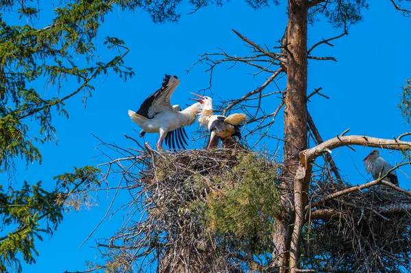
<svg viewBox="0 0 411 273">
<path fill-rule="evenodd" d="M 160 112 L 174 112 L 175 109 L 170 103 L 170 98 L 178 85 L 177 76 L 165 75 L 161 88 L 145 99 L 136 113 L 146 118 L 153 118 Z"/>
</svg>

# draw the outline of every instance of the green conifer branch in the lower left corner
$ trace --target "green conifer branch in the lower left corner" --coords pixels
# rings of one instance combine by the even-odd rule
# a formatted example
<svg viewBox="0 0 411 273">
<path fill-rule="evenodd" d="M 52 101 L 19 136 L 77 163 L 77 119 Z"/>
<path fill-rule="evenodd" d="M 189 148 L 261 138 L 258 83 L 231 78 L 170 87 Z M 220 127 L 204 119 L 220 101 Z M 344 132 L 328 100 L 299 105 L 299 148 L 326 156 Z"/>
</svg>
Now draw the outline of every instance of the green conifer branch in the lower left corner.
<svg viewBox="0 0 411 273">
<path fill-rule="evenodd" d="M 57 185 L 51 192 L 41 182 L 29 185 L 25 181 L 21 190 L 11 190 L 8 194 L 0 186 L 1 228 L 15 226 L 14 231 L 0 237 L 0 272 L 11 269 L 20 272 L 19 253 L 23 261 L 35 262 L 34 255 L 38 255 L 35 240 L 42 240 L 41 233 L 53 235 L 63 219 L 66 201 L 81 196 L 86 187 L 97 183 L 97 174 L 98 170 L 92 166 L 75 168 L 74 173 L 55 177 Z M 42 222 L 46 222 L 45 228 L 41 227 Z"/>
</svg>

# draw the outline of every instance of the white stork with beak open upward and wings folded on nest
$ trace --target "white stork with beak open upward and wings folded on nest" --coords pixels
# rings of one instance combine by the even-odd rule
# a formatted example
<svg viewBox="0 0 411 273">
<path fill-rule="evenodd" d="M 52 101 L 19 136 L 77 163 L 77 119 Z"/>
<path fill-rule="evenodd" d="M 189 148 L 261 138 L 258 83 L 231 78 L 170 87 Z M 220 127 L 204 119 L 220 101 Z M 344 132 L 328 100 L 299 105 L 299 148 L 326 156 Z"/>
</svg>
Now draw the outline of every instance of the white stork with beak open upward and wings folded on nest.
<svg viewBox="0 0 411 273">
<path fill-rule="evenodd" d="M 241 139 L 239 124 L 240 122 L 245 122 L 245 120 L 247 120 L 245 114 L 231 114 L 227 117 L 214 115 L 212 99 L 210 96 L 201 96 L 199 94 L 194 95 L 199 96 L 201 99 L 192 100 L 199 101 L 199 103 L 203 105 L 203 109 L 199 116 L 199 124 L 202 127 L 208 127 L 208 131 L 210 131 L 210 140 L 208 141 L 207 149 L 210 148 L 210 144 L 216 137 L 229 138 L 236 135 L 239 140 Z"/>
</svg>

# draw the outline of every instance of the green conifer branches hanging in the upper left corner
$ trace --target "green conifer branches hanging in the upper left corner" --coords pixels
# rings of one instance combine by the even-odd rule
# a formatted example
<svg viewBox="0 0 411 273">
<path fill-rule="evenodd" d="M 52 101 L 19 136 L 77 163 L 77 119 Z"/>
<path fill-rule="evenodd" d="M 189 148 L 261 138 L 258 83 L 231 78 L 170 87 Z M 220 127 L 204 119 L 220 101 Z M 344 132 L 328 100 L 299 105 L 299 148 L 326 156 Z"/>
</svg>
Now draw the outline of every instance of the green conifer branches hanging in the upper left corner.
<svg viewBox="0 0 411 273">
<path fill-rule="evenodd" d="M 26 3 L 26 2 L 24 2 Z M 4 4 L 3 9 L 12 8 Z M 35 140 L 51 141 L 55 135 L 52 113 L 68 117 L 64 103 L 83 92 L 86 103 L 94 87 L 91 81 L 109 70 L 127 79 L 134 73 L 124 66 L 123 57 L 128 49 L 122 40 L 105 38 L 105 46 L 118 49 L 108 62 L 95 56 L 95 36 L 103 18 L 113 6 L 105 1 L 75 1 L 55 9 L 51 25 L 36 29 L 31 25 L 8 25 L 0 18 L 0 168 L 13 166 L 14 157 L 27 163 L 40 160 Z M 23 7 L 21 15 L 37 16 L 38 10 Z M 123 53 L 121 53 L 123 51 Z M 83 57 L 84 67 L 78 64 Z M 96 61 L 99 60 L 99 61 Z M 55 86 L 55 97 L 45 98 L 36 90 L 36 81 L 42 86 Z M 77 81 L 78 87 L 60 96 L 64 81 Z M 40 125 L 39 135 L 30 138 L 27 118 Z"/>
</svg>

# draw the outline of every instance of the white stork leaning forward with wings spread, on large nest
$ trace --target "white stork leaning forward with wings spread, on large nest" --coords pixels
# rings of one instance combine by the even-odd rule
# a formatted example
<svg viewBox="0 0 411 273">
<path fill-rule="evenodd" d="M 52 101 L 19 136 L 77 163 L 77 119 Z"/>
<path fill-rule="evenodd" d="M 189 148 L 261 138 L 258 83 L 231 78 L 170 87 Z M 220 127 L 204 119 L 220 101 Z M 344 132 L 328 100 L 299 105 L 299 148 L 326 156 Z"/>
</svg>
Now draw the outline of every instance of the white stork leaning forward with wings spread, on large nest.
<svg viewBox="0 0 411 273">
<path fill-rule="evenodd" d="M 151 94 L 141 104 L 137 112 L 129 110 L 130 118 L 142 128 L 140 137 L 145 133 L 160 133 L 160 139 L 157 142 L 157 150 L 162 148 L 162 142 L 165 139 L 167 146 L 175 149 L 184 147 L 183 142 L 187 144 L 184 136 L 187 138 L 184 126 L 192 125 L 195 122 L 197 114 L 201 110 L 201 103 L 195 103 L 183 111 L 180 111 L 179 105 L 171 105 L 170 98 L 175 88 L 179 85 L 177 76 L 165 75 L 162 87 Z"/>
</svg>

